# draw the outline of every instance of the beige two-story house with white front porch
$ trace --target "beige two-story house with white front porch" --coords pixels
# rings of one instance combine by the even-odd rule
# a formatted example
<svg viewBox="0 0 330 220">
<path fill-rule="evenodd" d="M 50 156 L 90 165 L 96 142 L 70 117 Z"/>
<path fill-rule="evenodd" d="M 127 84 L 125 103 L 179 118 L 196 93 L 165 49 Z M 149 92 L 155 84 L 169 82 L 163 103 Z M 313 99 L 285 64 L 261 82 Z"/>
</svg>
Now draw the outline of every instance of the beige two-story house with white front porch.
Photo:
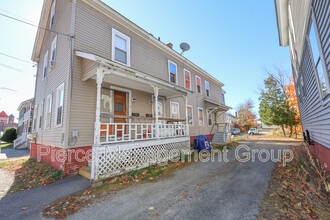
<svg viewBox="0 0 330 220">
<path fill-rule="evenodd" d="M 224 84 L 103 2 L 45 0 L 39 26 L 32 157 L 68 175 L 89 166 L 98 179 L 225 135 Z M 63 149 L 92 149 L 93 160 L 53 161 Z"/>
</svg>

